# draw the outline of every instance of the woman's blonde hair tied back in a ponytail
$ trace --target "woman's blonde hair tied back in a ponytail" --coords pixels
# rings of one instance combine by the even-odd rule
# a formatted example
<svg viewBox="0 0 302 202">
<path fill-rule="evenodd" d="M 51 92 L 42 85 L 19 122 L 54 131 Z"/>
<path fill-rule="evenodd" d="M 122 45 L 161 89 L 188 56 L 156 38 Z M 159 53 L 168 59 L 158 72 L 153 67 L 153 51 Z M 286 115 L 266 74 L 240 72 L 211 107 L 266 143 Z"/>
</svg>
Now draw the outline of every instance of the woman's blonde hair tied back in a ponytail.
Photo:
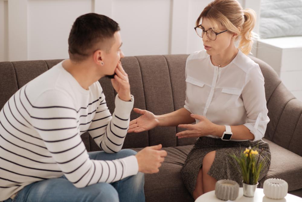
<svg viewBox="0 0 302 202">
<path fill-rule="evenodd" d="M 243 10 L 236 0 L 214 0 L 201 12 L 197 18 L 196 26 L 199 25 L 202 18 L 209 19 L 211 24 L 214 25 L 213 30 L 216 32 L 218 32 L 217 22 L 220 22 L 228 31 L 238 34 L 235 39 L 236 41 L 240 39 L 238 48 L 246 55 L 250 53 L 254 38 L 257 36 L 252 32 L 256 21 L 254 10 Z"/>
</svg>

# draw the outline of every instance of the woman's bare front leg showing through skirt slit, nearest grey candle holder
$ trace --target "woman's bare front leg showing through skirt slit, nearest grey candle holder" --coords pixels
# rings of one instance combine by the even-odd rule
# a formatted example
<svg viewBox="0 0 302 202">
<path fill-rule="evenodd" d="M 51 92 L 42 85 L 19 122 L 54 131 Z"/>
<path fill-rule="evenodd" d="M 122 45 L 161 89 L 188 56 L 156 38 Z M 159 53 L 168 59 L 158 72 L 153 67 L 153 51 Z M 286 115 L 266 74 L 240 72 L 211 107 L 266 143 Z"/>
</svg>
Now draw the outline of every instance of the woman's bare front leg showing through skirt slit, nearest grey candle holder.
<svg viewBox="0 0 302 202">
<path fill-rule="evenodd" d="M 215 158 L 216 151 L 211 151 L 204 156 L 202 161 L 202 187 L 203 193 L 215 190 L 215 184 L 217 180 L 208 175 Z"/>
</svg>

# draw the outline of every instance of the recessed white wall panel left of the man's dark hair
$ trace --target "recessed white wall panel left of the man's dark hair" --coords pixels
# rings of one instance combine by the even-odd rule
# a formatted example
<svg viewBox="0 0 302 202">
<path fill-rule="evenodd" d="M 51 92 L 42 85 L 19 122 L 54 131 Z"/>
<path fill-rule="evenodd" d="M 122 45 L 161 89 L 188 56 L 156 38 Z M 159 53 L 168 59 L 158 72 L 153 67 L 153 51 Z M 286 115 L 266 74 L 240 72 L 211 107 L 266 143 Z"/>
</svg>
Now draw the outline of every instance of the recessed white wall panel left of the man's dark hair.
<svg viewBox="0 0 302 202">
<path fill-rule="evenodd" d="M 89 12 L 91 0 L 28 1 L 28 60 L 68 58 L 72 24 Z"/>
</svg>

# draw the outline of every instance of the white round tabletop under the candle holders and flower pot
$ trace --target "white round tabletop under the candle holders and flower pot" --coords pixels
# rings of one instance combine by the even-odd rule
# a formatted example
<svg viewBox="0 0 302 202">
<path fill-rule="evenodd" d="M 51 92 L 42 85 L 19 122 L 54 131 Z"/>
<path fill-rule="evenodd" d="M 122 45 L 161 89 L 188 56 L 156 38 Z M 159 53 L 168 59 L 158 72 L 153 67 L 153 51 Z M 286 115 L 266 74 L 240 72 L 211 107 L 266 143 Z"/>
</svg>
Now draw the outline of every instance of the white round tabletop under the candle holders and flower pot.
<svg viewBox="0 0 302 202">
<path fill-rule="evenodd" d="M 210 201 L 210 202 L 223 202 L 224 200 L 220 200 L 215 196 L 215 190 L 207 192 L 205 194 L 202 194 L 200 197 L 198 197 L 195 202 L 205 202 L 205 201 Z M 239 195 L 236 198 L 236 200 L 233 201 L 241 201 L 241 202 L 302 202 L 302 198 L 297 197 L 292 194 L 287 194 L 285 198 L 283 199 L 270 199 L 266 197 L 263 194 L 263 189 L 257 188 L 255 191 L 254 197 L 245 197 L 243 196 L 243 188 L 239 188 Z"/>
</svg>

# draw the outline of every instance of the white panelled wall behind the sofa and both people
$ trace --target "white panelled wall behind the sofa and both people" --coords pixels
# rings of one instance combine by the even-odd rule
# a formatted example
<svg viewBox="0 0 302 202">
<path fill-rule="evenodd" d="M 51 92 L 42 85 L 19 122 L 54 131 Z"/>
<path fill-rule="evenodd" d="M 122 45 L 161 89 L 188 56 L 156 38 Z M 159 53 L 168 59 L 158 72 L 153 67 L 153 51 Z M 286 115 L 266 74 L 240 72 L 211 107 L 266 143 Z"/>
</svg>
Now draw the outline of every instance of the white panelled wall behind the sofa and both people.
<svg viewBox="0 0 302 202">
<path fill-rule="evenodd" d="M 249 0 L 239 0 L 244 6 Z M 74 20 L 95 12 L 121 27 L 126 56 L 203 49 L 194 25 L 210 0 L 0 0 L 0 61 L 68 58 Z M 253 1 L 249 7 L 255 7 Z M 256 2 L 256 3 L 255 3 Z"/>
</svg>

